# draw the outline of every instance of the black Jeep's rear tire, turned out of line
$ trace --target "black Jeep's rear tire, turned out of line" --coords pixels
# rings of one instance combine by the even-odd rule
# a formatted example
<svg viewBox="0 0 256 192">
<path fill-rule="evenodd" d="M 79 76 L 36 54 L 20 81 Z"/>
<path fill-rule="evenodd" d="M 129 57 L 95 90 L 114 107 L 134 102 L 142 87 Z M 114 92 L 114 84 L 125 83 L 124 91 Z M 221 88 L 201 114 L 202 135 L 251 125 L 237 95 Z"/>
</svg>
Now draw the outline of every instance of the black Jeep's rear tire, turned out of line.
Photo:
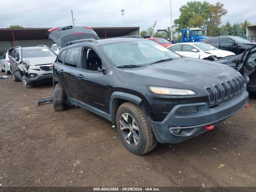
<svg viewBox="0 0 256 192">
<path fill-rule="evenodd" d="M 66 109 L 66 95 L 61 84 L 57 83 L 53 91 L 53 107 L 55 111 Z"/>
</svg>

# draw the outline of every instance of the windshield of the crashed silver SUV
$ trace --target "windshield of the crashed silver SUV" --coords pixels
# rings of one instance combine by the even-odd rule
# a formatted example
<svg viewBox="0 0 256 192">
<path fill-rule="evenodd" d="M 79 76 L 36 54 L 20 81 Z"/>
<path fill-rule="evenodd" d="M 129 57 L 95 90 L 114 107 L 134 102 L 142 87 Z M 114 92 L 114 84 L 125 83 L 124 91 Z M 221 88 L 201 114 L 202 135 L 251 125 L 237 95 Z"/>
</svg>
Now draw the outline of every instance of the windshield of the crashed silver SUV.
<svg viewBox="0 0 256 192">
<path fill-rule="evenodd" d="M 48 48 L 34 48 L 22 50 L 23 58 L 34 58 L 34 57 L 54 57 L 56 54 Z"/>
</svg>

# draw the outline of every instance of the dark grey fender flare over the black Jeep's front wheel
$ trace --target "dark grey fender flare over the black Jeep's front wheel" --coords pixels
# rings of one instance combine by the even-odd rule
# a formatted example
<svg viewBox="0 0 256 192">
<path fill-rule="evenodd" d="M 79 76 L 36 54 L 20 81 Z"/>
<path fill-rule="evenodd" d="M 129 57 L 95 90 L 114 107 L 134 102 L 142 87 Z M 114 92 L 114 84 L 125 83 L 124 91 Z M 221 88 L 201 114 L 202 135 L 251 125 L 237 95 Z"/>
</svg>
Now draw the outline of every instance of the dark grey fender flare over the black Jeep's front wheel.
<svg viewBox="0 0 256 192">
<path fill-rule="evenodd" d="M 129 93 L 125 93 L 125 92 L 113 92 L 110 96 L 110 104 L 109 104 L 109 112 L 110 112 L 110 119 L 112 120 L 112 106 L 113 106 L 113 101 L 115 98 L 118 99 L 124 99 L 124 100 L 128 100 L 131 101 L 137 105 L 139 105 L 142 102 L 142 99 L 136 95 L 132 95 Z"/>
</svg>

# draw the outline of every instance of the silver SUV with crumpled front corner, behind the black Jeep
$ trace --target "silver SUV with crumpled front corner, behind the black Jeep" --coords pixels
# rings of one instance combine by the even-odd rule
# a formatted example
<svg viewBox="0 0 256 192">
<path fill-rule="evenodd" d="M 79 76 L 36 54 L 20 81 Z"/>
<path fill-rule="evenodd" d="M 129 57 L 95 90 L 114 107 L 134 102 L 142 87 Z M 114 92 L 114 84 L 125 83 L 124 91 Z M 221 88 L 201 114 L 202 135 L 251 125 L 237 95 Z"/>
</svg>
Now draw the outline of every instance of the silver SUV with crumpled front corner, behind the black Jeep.
<svg viewBox="0 0 256 192">
<path fill-rule="evenodd" d="M 10 70 L 15 82 L 22 80 L 24 87 L 52 80 L 52 63 L 56 53 L 44 45 L 15 47 L 10 55 Z"/>
</svg>

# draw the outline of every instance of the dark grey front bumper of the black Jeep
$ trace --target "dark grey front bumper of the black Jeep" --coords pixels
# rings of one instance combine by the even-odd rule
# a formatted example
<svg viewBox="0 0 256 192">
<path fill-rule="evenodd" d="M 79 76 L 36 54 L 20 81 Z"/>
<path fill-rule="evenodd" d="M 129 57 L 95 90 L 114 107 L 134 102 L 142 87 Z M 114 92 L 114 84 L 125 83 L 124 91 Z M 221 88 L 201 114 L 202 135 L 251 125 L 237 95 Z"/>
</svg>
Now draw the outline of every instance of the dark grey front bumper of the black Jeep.
<svg viewBox="0 0 256 192">
<path fill-rule="evenodd" d="M 243 92 L 218 106 L 209 108 L 207 103 L 176 105 L 162 122 L 154 122 L 148 118 L 151 128 L 160 143 L 179 143 L 206 132 L 205 126 L 218 124 L 233 116 L 248 104 L 248 92 Z M 180 107 L 197 106 L 198 112 L 188 116 L 176 116 Z M 176 130 L 181 129 L 179 134 Z"/>
</svg>

